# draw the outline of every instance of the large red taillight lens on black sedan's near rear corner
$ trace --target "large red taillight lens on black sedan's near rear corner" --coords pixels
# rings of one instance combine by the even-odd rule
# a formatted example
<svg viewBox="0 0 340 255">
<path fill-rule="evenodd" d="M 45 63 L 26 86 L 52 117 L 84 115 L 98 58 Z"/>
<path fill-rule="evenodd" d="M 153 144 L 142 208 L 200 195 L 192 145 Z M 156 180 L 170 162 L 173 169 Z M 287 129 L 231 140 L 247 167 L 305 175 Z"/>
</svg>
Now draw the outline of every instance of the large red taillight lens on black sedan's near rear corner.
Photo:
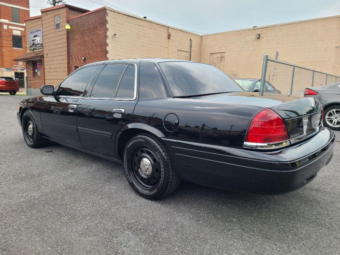
<svg viewBox="0 0 340 255">
<path fill-rule="evenodd" d="M 246 142 L 275 143 L 288 140 L 284 120 L 273 110 L 263 109 L 252 119 Z"/>
</svg>

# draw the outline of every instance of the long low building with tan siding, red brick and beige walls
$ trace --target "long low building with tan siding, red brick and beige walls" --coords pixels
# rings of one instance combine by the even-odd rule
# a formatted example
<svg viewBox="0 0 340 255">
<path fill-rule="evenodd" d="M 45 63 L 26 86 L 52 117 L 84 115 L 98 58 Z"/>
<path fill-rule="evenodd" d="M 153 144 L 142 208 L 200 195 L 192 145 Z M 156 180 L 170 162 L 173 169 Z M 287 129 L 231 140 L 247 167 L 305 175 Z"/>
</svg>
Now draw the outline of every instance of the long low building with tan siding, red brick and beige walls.
<svg viewBox="0 0 340 255">
<path fill-rule="evenodd" d="M 26 37 L 42 30 L 43 47 L 32 51 L 28 40 L 28 52 L 15 59 L 26 61 L 32 94 L 44 84 L 58 85 L 84 64 L 119 58 L 192 60 L 215 65 L 232 78 L 259 78 L 263 55 L 278 50 L 285 61 L 340 73 L 340 48 L 335 47 L 340 16 L 203 36 L 108 7 L 87 11 L 63 4 L 25 22 Z"/>
</svg>

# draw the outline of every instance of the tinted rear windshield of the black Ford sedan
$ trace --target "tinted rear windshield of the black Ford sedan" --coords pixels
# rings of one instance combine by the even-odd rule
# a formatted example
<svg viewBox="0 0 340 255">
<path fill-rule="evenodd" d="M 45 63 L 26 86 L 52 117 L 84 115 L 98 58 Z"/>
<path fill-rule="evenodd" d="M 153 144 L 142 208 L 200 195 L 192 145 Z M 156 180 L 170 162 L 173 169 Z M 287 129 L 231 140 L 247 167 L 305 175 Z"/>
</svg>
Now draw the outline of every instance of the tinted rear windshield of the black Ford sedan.
<svg viewBox="0 0 340 255">
<path fill-rule="evenodd" d="M 214 66 L 195 62 L 159 63 L 174 97 L 243 91 Z"/>
</svg>

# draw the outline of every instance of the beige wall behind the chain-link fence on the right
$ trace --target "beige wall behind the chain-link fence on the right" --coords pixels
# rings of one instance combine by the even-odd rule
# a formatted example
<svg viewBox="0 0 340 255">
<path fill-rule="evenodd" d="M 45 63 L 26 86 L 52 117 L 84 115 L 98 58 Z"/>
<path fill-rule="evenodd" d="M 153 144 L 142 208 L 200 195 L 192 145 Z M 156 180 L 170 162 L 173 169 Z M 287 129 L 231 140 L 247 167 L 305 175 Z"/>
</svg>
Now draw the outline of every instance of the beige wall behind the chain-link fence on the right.
<svg viewBox="0 0 340 255">
<path fill-rule="evenodd" d="M 340 75 L 336 45 L 340 16 L 204 35 L 200 61 L 224 62 L 223 71 L 232 78 L 260 78 L 263 55 L 274 57 L 279 51 L 284 61 Z"/>
</svg>

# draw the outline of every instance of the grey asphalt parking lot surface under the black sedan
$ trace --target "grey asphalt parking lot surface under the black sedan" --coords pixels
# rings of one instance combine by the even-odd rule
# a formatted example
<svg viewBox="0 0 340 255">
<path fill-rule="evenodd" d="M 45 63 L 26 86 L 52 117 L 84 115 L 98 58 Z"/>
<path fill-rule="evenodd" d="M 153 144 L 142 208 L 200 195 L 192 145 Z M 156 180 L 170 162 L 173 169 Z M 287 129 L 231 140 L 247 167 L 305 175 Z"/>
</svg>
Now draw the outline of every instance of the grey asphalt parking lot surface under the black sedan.
<svg viewBox="0 0 340 255">
<path fill-rule="evenodd" d="M 182 183 L 138 197 L 123 167 L 60 145 L 29 148 L 26 96 L 0 95 L 0 254 L 340 254 L 340 132 L 330 164 L 290 194 Z"/>
</svg>

